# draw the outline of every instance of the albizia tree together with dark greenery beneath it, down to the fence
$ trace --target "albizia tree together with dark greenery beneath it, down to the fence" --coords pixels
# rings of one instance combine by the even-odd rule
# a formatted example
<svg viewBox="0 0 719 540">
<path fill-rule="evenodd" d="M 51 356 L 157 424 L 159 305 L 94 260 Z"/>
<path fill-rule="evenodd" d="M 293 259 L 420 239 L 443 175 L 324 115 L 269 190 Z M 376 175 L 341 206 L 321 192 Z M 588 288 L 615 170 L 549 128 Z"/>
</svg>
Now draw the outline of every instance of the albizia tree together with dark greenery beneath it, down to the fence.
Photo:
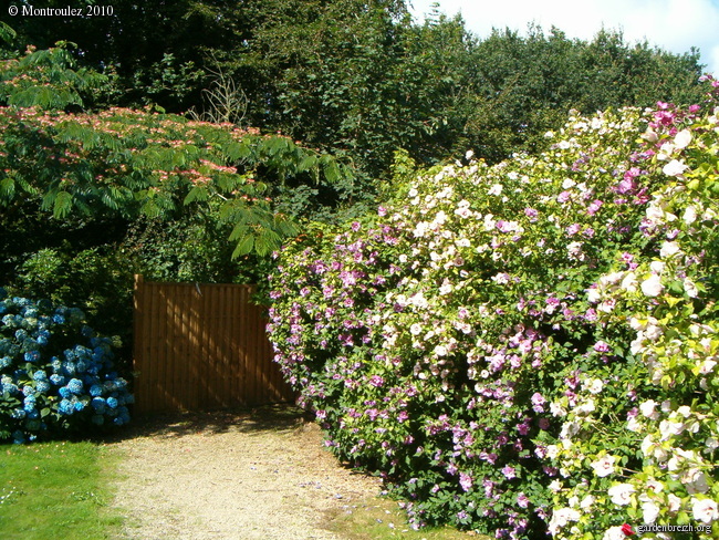
<svg viewBox="0 0 719 540">
<path fill-rule="evenodd" d="M 350 169 L 280 135 L 152 110 L 83 112 L 105 77 L 69 45 L 0 66 L 0 282 L 83 309 L 129 345 L 133 272 L 257 282 L 268 253 L 352 191 Z"/>
</svg>

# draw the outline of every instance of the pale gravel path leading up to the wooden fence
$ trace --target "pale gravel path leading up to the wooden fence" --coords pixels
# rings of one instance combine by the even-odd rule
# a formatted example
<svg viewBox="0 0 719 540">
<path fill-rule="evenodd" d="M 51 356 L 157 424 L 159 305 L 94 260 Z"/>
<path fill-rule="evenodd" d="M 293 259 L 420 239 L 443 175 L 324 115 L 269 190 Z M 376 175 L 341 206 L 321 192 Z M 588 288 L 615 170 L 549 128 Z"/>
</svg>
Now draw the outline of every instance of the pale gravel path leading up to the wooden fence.
<svg viewBox="0 0 719 540">
<path fill-rule="evenodd" d="M 156 417 L 110 446 L 125 539 L 338 540 L 325 515 L 379 492 L 295 409 Z"/>
</svg>

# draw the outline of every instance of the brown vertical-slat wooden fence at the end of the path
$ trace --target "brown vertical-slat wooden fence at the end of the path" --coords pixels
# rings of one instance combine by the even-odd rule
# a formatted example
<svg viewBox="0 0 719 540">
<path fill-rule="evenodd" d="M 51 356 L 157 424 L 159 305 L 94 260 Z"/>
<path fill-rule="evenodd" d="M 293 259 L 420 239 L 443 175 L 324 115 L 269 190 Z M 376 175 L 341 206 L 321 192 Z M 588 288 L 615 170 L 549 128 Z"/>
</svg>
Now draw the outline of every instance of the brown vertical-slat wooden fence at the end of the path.
<svg viewBox="0 0 719 540">
<path fill-rule="evenodd" d="M 135 278 L 136 413 L 293 399 L 251 292 L 249 285 Z"/>
</svg>

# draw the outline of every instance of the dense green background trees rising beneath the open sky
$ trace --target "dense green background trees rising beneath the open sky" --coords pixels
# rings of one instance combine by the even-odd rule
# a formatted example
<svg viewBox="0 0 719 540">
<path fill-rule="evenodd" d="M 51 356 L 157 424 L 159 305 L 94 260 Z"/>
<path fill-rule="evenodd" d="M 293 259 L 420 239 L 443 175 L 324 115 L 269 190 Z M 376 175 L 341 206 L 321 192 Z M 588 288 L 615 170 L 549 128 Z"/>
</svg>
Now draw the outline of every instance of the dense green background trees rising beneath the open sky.
<svg viewBox="0 0 719 540">
<path fill-rule="evenodd" d="M 52 27 L 27 18 L 18 43 L 48 48 L 72 35 L 83 63 L 111 80 L 97 104 L 194 108 L 280 131 L 351 156 L 367 178 L 386 178 L 397 148 L 421 164 L 468 148 L 496 162 L 541 149 L 541 135 L 570 108 L 694 103 L 700 92 L 696 51 L 670 54 L 606 31 L 592 41 L 539 28 L 477 37 L 439 12 L 418 24 L 403 0 L 150 0 L 114 9 Z"/>
</svg>

